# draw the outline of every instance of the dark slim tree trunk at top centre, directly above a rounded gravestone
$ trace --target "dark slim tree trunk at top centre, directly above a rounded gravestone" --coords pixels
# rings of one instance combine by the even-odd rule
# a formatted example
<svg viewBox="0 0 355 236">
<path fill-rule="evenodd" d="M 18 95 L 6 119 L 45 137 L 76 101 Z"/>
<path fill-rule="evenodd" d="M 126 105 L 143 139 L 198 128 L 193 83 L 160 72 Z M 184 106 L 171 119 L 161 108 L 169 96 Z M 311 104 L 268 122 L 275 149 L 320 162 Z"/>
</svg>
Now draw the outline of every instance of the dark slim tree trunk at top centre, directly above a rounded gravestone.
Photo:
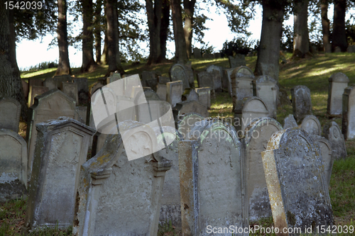
<svg viewBox="0 0 355 236">
<path fill-rule="evenodd" d="M 181 1 L 171 0 L 171 12 L 173 16 L 173 28 L 175 39 L 175 61 L 185 64 L 187 62 L 186 43 L 184 29 L 182 28 Z"/>
</svg>

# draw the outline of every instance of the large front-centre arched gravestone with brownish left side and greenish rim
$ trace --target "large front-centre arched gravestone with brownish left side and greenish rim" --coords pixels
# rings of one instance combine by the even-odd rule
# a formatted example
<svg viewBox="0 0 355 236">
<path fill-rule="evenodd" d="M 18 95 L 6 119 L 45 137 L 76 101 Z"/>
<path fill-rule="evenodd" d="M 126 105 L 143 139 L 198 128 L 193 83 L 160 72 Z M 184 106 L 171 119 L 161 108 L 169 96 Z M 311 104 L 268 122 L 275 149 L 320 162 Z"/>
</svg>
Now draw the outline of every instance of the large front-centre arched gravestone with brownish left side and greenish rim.
<svg viewBox="0 0 355 236">
<path fill-rule="evenodd" d="M 210 235 L 207 225 L 249 227 L 244 147 L 234 128 L 205 119 L 189 136 L 179 143 L 182 234 Z"/>
</svg>

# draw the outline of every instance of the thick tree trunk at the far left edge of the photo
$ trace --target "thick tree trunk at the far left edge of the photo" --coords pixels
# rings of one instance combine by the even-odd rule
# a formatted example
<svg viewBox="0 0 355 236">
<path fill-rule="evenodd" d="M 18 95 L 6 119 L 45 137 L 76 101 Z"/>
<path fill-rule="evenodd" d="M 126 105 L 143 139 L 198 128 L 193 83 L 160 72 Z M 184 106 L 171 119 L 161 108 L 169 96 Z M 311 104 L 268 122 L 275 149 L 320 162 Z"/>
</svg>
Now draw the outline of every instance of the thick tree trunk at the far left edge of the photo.
<svg viewBox="0 0 355 236">
<path fill-rule="evenodd" d="M 16 62 L 13 11 L 5 9 L 4 0 L 0 0 L 0 22 L 0 98 L 13 98 L 19 101 L 21 117 L 27 121 L 28 108 Z"/>
</svg>

